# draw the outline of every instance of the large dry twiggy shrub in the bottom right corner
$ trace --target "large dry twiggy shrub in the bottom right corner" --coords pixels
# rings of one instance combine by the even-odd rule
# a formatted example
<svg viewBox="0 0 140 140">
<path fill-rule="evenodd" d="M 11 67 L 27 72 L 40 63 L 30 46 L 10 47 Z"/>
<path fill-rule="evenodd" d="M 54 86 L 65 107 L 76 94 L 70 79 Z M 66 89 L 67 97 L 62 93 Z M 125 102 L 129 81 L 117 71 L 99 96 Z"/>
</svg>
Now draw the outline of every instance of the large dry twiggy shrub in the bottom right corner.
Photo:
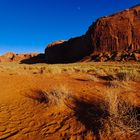
<svg viewBox="0 0 140 140">
<path fill-rule="evenodd" d="M 137 135 L 140 131 L 140 122 L 136 107 L 124 101 L 118 93 L 108 92 L 105 95 L 106 107 L 109 112 L 103 129 L 106 135 L 121 136 L 127 133 Z"/>
</svg>

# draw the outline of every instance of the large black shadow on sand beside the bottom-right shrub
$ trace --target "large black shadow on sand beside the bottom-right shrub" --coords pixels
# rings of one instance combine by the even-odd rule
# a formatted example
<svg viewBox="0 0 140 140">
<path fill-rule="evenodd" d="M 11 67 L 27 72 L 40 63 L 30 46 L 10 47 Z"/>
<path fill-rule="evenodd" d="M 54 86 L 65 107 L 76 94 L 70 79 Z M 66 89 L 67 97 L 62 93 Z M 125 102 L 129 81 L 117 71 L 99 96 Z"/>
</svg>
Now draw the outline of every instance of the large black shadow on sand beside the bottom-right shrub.
<svg viewBox="0 0 140 140">
<path fill-rule="evenodd" d="M 89 102 L 85 99 L 73 98 L 73 103 L 67 105 L 74 110 L 75 116 L 87 131 L 93 132 L 96 139 L 99 138 L 99 132 L 103 128 L 103 121 L 109 116 L 103 102 Z"/>
</svg>

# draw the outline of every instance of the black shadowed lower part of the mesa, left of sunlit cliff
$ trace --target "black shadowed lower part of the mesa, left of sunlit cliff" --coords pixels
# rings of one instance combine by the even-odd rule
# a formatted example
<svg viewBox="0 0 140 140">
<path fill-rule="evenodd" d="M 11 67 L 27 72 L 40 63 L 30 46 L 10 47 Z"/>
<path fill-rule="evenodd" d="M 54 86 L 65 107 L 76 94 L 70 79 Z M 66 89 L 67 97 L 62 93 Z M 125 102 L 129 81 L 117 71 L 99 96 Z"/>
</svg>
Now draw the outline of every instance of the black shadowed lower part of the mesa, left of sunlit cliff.
<svg viewBox="0 0 140 140">
<path fill-rule="evenodd" d="M 87 36 L 72 38 L 59 44 L 56 43 L 49 44 L 45 50 L 47 63 L 76 62 L 93 52 L 91 40 Z"/>
</svg>

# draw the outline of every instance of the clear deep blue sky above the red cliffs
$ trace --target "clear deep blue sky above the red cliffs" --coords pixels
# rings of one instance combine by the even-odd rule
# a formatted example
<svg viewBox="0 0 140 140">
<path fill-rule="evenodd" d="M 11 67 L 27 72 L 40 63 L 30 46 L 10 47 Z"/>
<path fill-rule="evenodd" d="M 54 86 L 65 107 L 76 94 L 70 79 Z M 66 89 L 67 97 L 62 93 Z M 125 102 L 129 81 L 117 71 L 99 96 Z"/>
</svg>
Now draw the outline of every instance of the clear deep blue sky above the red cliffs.
<svg viewBox="0 0 140 140">
<path fill-rule="evenodd" d="M 55 40 L 84 34 L 97 18 L 140 0 L 0 0 L 0 54 L 43 52 Z"/>
</svg>

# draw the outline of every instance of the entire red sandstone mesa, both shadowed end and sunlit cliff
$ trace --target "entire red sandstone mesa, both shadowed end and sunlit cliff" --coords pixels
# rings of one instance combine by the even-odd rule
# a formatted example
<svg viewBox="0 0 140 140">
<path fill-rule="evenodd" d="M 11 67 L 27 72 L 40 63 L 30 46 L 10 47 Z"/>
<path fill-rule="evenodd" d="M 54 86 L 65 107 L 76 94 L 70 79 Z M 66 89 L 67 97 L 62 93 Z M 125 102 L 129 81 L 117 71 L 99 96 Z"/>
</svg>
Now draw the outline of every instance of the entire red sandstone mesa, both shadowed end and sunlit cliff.
<svg viewBox="0 0 140 140">
<path fill-rule="evenodd" d="M 48 63 L 70 63 L 90 54 L 139 49 L 140 5 L 98 19 L 81 37 L 49 44 L 45 55 Z"/>
</svg>

